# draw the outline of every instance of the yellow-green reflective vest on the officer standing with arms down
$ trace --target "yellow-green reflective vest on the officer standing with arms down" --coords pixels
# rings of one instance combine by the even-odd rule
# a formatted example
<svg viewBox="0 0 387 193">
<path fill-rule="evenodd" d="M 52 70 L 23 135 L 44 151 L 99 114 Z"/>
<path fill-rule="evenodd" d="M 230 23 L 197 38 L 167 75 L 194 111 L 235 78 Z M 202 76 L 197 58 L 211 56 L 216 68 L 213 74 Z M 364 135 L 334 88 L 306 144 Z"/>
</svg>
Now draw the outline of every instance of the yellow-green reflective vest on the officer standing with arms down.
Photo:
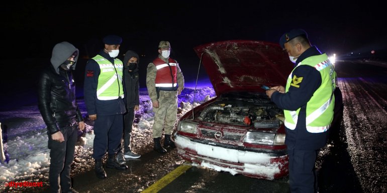
<svg viewBox="0 0 387 193">
<path fill-rule="evenodd" d="M 101 74 L 98 77 L 97 98 L 99 100 L 113 100 L 124 98 L 122 86 L 123 64 L 120 59 L 114 59 L 114 65 L 104 57 L 96 55 L 95 62 L 100 65 Z"/>
</svg>

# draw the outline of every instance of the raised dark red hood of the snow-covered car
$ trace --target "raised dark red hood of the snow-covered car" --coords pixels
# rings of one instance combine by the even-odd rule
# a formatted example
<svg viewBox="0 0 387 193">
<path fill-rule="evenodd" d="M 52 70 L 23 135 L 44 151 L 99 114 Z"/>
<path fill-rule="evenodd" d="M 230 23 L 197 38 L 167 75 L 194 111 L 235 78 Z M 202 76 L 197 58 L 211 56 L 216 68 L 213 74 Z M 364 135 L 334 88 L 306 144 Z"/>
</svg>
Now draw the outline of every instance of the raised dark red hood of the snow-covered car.
<svg viewBox="0 0 387 193">
<path fill-rule="evenodd" d="M 234 91 L 264 92 L 262 85 L 284 86 L 294 66 L 279 44 L 270 42 L 230 40 L 193 49 L 218 96 Z"/>
</svg>

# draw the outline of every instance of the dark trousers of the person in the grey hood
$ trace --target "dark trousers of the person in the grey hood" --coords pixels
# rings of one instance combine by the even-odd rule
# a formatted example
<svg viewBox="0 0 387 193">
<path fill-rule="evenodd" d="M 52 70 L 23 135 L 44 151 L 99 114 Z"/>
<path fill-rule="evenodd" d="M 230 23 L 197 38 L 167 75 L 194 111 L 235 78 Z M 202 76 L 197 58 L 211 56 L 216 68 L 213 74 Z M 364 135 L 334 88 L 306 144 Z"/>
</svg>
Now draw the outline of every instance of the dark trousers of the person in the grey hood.
<svg viewBox="0 0 387 193">
<path fill-rule="evenodd" d="M 70 170 L 74 160 L 75 142 L 78 138 L 77 125 L 60 129 L 64 141 L 58 142 L 48 134 L 50 149 L 49 181 L 51 192 L 67 192 L 71 187 Z"/>
</svg>

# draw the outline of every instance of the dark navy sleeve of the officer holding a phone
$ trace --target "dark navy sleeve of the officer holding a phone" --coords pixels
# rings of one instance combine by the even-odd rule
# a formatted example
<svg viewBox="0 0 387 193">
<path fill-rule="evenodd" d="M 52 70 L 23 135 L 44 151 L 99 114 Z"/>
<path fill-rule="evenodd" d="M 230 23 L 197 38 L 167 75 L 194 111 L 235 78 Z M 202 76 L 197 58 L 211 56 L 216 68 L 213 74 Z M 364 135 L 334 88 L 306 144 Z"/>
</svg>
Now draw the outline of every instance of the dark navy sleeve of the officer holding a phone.
<svg viewBox="0 0 387 193">
<path fill-rule="evenodd" d="M 290 86 L 286 93 L 274 92 L 271 95 L 273 101 L 279 108 L 295 111 L 305 106 L 312 98 L 314 92 L 321 86 L 320 72 L 308 65 L 297 67 L 292 77 L 303 78 L 299 87 Z"/>
</svg>

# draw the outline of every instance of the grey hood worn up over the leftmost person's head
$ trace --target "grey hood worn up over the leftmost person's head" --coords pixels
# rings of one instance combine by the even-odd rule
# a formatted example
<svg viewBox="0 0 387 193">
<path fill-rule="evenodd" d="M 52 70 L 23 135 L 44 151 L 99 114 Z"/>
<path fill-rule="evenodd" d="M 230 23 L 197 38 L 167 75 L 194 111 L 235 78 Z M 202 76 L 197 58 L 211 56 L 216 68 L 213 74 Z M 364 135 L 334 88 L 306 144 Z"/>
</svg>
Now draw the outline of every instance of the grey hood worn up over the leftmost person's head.
<svg viewBox="0 0 387 193">
<path fill-rule="evenodd" d="M 77 52 L 77 55 L 74 58 L 75 64 L 71 66 L 73 70 L 75 70 L 76 61 L 79 57 L 79 50 L 68 42 L 61 42 L 54 46 L 50 61 L 57 74 L 59 74 L 59 66 L 63 64 L 74 52 Z"/>
</svg>

